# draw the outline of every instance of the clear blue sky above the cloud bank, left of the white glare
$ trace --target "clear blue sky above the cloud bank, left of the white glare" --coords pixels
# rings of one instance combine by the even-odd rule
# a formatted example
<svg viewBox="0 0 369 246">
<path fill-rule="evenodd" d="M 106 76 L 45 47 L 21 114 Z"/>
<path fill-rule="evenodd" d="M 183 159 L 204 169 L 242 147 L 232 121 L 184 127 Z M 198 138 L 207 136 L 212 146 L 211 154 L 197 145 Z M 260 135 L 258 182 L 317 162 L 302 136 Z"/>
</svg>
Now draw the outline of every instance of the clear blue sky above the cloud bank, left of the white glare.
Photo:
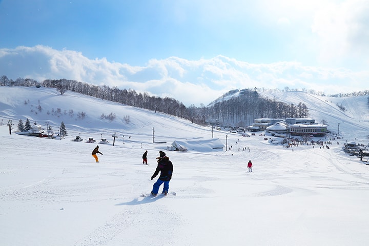
<svg viewBox="0 0 369 246">
<path fill-rule="evenodd" d="M 226 55 L 250 62 L 293 58 L 283 52 L 287 44 L 277 20 L 258 19 L 254 1 L 235 2 L 5 0 L 0 30 L 10 35 L 1 45 L 47 45 L 131 65 L 170 56 Z"/>
</svg>

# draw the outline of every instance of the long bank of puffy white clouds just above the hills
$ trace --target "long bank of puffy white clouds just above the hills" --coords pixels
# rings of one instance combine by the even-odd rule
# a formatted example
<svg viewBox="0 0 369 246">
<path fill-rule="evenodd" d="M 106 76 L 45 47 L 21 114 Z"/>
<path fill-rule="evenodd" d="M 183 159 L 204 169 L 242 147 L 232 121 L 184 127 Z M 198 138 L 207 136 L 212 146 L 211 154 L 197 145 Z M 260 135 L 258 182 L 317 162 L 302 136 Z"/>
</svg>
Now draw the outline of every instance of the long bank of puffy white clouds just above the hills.
<svg viewBox="0 0 369 246">
<path fill-rule="evenodd" d="M 152 59 L 146 66 L 88 59 L 82 53 L 46 46 L 0 49 L 0 75 L 44 79 L 73 79 L 95 85 L 169 96 L 186 106 L 209 104 L 232 89 L 312 89 L 326 94 L 365 90 L 369 72 L 303 66 L 281 61 L 251 64 L 226 56 L 187 60 Z"/>
</svg>

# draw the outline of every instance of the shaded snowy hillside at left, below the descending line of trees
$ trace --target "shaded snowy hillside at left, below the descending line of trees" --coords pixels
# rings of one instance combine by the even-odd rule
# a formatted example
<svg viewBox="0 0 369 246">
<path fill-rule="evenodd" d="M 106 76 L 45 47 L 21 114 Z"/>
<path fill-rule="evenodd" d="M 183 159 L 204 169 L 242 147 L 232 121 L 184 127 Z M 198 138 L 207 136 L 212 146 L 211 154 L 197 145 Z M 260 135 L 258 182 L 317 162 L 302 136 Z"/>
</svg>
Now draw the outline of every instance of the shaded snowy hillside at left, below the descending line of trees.
<svg viewBox="0 0 369 246">
<path fill-rule="evenodd" d="M 39 110 L 39 108 L 41 110 Z M 70 112 L 73 111 L 73 114 Z M 78 113 L 86 113 L 81 119 Z M 115 115 L 114 120 L 103 119 L 101 115 Z M 183 131 L 183 127 L 190 128 L 189 138 L 209 137 L 211 132 L 206 132 L 198 125 L 190 121 L 153 111 L 123 106 L 118 103 L 96 99 L 79 93 L 67 91 L 60 95 L 55 89 L 34 87 L 0 87 L 0 118 L 5 122 L 12 119 L 15 128 L 19 119 L 25 122 L 26 118 L 31 122 L 45 126 L 46 122 L 57 130 L 61 121 L 67 126 L 67 131 L 75 132 L 88 129 L 97 134 L 91 136 L 108 138 L 114 132 L 118 135 L 153 135 L 154 141 L 165 141 L 163 136 L 176 138 L 177 131 Z M 88 136 L 83 136 L 88 137 Z M 185 137 L 186 138 L 186 137 Z M 181 138 L 183 139 L 183 138 Z"/>
</svg>

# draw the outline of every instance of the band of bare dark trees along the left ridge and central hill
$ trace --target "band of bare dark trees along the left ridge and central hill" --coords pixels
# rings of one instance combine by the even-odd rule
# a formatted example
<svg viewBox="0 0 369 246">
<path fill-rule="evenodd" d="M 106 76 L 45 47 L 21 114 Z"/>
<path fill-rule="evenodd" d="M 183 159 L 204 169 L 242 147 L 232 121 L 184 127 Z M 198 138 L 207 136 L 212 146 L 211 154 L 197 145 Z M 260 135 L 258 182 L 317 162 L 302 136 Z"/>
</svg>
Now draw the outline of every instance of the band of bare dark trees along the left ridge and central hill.
<svg viewBox="0 0 369 246">
<path fill-rule="evenodd" d="M 305 118 L 309 116 L 308 107 L 304 103 L 289 105 L 275 99 L 260 97 L 258 93 L 260 88 L 230 91 L 207 107 L 203 105 L 186 107 L 180 101 L 170 97 L 161 98 L 151 96 L 147 92 L 137 93 L 131 89 L 121 90 L 117 87 L 96 86 L 68 79 L 45 79 L 39 83 L 31 78 L 12 80 L 3 75 L 0 77 L 0 86 L 55 88 L 61 95 L 69 90 L 127 106 L 167 113 L 191 120 L 199 125 L 245 127 L 250 126 L 255 118 Z M 237 96 L 232 96 L 236 92 L 239 92 Z"/>
</svg>

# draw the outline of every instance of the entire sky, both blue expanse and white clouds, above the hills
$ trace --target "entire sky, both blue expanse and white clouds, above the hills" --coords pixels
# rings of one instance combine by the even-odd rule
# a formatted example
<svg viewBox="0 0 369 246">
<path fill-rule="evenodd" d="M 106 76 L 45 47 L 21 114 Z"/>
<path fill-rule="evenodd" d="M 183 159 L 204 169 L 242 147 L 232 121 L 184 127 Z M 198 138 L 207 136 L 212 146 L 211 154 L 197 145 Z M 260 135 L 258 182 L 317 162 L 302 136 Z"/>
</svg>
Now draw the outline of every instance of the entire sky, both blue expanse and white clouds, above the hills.
<svg viewBox="0 0 369 246">
<path fill-rule="evenodd" d="M 368 89 L 364 0 L 2 0 L 0 33 L 0 75 L 13 79 L 64 76 L 185 105 L 255 86 Z"/>
</svg>

